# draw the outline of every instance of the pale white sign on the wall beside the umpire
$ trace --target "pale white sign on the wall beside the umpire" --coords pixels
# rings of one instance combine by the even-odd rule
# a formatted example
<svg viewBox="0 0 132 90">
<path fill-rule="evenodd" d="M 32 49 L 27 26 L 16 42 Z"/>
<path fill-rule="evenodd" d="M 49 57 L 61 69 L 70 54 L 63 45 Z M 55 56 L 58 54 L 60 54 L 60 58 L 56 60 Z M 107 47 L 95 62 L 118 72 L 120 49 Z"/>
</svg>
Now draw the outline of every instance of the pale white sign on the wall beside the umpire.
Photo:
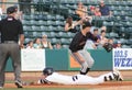
<svg viewBox="0 0 132 90">
<path fill-rule="evenodd" d="M 42 71 L 45 68 L 45 49 L 22 49 L 22 71 Z"/>
</svg>

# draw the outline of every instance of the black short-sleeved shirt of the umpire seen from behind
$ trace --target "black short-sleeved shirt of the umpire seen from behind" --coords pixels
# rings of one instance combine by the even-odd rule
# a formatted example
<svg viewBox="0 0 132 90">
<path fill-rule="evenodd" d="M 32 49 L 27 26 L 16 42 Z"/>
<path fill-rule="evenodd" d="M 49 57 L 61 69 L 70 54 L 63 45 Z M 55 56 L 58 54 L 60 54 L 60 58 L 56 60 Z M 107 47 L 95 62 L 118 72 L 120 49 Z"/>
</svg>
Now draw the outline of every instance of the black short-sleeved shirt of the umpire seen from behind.
<svg viewBox="0 0 132 90">
<path fill-rule="evenodd" d="M 0 21 L 1 42 L 14 41 L 18 43 L 19 35 L 23 34 L 22 23 L 13 16 L 7 16 Z"/>
</svg>

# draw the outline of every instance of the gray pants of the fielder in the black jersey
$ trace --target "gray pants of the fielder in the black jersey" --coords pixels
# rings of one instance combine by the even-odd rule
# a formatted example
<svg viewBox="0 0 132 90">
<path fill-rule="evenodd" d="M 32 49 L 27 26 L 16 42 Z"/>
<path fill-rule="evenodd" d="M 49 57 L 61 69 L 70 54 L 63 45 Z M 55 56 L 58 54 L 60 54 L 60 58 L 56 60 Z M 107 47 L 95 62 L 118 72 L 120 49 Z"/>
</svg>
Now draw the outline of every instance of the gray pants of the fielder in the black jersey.
<svg viewBox="0 0 132 90">
<path fill-rule="evenodd" d="M 73 53 L 73 56 L 81 65 L 80 70 L 82 72 L 85 72 L 87 68 L 91 68 L 92 67 L 92 65 L 95 63 L 94 58 L 90 56 L 90 54 L 86 49 L 78 50 L 77 53 L 85 60 L 84 63 L 80 60 L 80 58 L 78 57 L 78 55 L 76 55 L 76 54 Z"/>
</svg>

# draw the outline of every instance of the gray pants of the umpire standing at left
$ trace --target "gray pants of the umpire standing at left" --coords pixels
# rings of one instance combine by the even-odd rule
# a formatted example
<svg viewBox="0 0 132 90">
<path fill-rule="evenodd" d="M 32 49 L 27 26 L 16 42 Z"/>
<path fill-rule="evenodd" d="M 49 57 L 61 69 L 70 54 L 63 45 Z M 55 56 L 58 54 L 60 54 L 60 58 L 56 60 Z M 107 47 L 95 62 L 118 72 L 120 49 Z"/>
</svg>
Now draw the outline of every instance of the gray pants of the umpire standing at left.
<svg viewBox="0 0 132 90">
<path fill-rule="evenodd" d="M 12 59 L 14 80 L 20 80 L 21 57 L 19 45 L 16 43 L 2 43 L 0 44 L 0 87 L 4 86 L 4 69 L 9 57 Z"/>
</svg>

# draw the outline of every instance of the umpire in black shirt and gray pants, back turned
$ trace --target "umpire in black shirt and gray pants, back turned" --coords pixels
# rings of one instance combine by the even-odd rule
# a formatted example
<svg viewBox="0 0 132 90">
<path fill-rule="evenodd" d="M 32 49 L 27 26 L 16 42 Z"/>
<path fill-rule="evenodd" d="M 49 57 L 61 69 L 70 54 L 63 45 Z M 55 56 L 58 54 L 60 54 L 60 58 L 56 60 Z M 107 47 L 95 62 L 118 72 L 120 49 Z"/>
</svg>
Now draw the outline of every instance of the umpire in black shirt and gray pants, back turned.
<svg viewBox="0 0 132 90">
<path fill-rule="evenodd" d="M 22 88 L 20 47 L 24 42 L 23 26 L 14 19 L 16 14 L 14 7 L 9 7 L 7 14 L 8 16 L 0 21 L 0 88 L 4 86 L 4 69 L 9 57 L 12 58 L 14 83 L 18 88 Z"/>
</svg>

